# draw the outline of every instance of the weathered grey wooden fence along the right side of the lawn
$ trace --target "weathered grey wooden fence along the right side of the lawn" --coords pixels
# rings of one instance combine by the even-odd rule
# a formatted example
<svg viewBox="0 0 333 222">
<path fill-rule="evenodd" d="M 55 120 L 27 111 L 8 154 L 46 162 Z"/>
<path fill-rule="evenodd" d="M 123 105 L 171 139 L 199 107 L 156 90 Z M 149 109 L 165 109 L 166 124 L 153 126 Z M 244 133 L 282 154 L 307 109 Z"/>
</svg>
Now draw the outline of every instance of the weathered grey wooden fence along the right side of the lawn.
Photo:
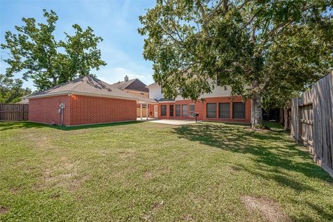
<svg viewBox="0 0 333 222">
<path fill-rule="evenodd" d="M 309 147 L 314 160 L 333 177 L 333 72 L 293 98 L 288 112 L 294 139 Z"/>
</svg>

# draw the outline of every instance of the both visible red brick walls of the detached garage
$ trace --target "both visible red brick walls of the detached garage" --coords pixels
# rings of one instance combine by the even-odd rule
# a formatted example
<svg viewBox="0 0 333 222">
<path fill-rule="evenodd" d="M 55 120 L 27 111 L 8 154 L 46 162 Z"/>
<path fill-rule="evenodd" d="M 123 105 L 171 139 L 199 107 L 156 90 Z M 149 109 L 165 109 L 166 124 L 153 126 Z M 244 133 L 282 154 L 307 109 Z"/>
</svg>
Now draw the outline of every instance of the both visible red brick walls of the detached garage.
<svg viewBox="0 0 333 222">
<path fill-rule="evenodd" d="M 94 96 L 62 95 L 29 99 L 29 121 L 60 124 L 58 108 L 65 103 L 64 125 L 135 121 L 137 102 Z"/>
</svg>

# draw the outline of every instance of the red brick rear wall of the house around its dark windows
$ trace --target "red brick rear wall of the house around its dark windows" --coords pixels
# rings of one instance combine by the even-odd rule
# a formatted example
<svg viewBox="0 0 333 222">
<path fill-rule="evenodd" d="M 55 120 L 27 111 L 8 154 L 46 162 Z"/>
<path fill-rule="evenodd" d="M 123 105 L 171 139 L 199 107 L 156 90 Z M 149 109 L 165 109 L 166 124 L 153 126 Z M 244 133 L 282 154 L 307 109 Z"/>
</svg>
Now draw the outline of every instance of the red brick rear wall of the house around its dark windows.
<svg viewBox="0 0 333 222">
<path fill-rule="evenodd" d="M 245 119 L 232 119 L 232 101 L 241 102 L 241 96 L 235 96 L 231 99 L 229 96 L 225 97 L 214 97 L 206 98 L 204 102 L 202 101 L 191 101 L 191 100 L 182 100 L 176 101 L 174 103 L 160 103 L 158 105 L 158 118 L 159 119 L 194 119 L 194 117 L 176 117 L 176 105 L 187 104 L 187 112 L 189 112 L 189 105 L 195 104 L 195 112 L 199 113 L 198 120 L 203 121 L 223 121 L 223 122 L 243 122 L 250 123 L 250 114 L 251 114 L 251 103 L 246 101 L 245 103 Z M 216 118 L 207 118 L 207 103 L 216 103 Z M 220 119 L 219 118 L 219 103 L 230 103 L 230 118 Z M 170 117 L 170 106 L 173 104 L 173 117 Z M 161 105 L 167 105 L 167 116 L 161 116 Z M 180 107 L 182 110 L 182 107 Z M 181 114 L 182 115 L 182 114 Z"/>
</svg>

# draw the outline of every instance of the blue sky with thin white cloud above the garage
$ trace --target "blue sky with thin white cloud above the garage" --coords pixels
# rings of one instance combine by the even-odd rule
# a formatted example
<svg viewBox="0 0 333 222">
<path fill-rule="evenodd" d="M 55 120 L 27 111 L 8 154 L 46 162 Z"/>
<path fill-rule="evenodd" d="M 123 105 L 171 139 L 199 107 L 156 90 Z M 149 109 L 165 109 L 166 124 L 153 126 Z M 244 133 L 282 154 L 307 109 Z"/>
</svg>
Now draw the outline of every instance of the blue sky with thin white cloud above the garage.
<svg viewBox="0 0 333 222">
<path fill-rule="evenodd" d="M 153 83 L 152 63 L 142 56 L 144 37 L 137 33 L 139 15 L 152 8 L 155 1 L 106 1 L 106 0 L 0 0 L 0 41 L 4 41 L 6 31 L 15 32 L 14 26 L 23 24 L 22 17 L 35 17 L 44 22 L 42 9 L 54 10 L 59 19 L 56 24 L 57 40 L 65 38 L 64 32 L 73 33 L 72 24 L 83 28 L 92 27 L 94 33 L 103 37 L 99 44 L 102 59 L 108 63 L 99 71 L 97 78 L 107 83 L 130 78 L 139 78 L 147 85 Z M 1 49 L 1 56 L 6 53 Z M 4 73 L 6 64 L 0 62 Z M 16 78 L 22 78 L 16 74 Z M 32 81 L 24 81 L 24 87 L 35 89 Z"/>
</svg>

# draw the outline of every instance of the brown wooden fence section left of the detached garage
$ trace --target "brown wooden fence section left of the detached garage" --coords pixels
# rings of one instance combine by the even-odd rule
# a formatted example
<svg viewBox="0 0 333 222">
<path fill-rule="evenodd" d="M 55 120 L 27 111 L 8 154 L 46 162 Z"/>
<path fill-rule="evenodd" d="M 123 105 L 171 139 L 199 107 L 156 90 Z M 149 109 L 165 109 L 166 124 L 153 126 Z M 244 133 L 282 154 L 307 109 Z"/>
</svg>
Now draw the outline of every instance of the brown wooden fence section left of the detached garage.
<svg viewBox="0 0 333 222">
<path fill-rule="evenodd" d="M 0 121 L 28 120 L 28 104 L 0 103 Z"/>
</svg>

